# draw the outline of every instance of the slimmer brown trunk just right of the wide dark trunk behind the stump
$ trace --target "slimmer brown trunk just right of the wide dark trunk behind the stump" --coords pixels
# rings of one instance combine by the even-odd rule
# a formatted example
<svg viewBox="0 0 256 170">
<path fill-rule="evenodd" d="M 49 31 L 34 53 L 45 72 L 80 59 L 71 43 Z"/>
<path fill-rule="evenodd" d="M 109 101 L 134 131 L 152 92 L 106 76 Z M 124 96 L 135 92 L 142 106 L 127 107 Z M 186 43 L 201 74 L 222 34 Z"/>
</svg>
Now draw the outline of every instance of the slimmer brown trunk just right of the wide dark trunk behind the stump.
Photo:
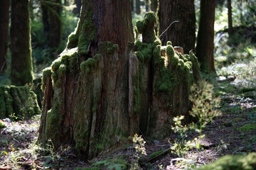
<svg viewBox="0 0 256 170">
<path fill-rule="evenodd" d="M 214 21 L 215 0 L 201 0 L 196 56 L 201 63 L 201 70 L 206 73 L 215 72 L 213 58 Z"/>
</svg>

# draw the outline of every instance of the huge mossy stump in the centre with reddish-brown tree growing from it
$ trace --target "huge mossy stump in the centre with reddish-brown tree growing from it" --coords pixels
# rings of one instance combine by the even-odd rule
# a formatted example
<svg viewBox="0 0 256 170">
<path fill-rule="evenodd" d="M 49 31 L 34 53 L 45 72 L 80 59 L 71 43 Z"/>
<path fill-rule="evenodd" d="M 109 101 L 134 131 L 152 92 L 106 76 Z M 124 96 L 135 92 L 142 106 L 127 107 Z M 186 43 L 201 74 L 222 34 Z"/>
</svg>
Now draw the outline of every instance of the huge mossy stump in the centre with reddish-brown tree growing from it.
<svg viewBox="0 0 256 170">
<path fill-rule="evenodd" d="M 178 59 L 169 45 L 167 56 L 174 62 L 173 70 L 167 69 L 154 33 L 156 15 L 147 13 L 139 23 L 146 43 L 134 45 L 129 0 L 82 1 L 67 50 L 43 71 L 46 89 L 38 136 L 43 145 L 49 139 L 55 148 L 72 142 L 86 160 L 122 147 L 139 131 L 155 139 L 166 137 L 171 118 L 188 115 L 196 57 Z"/>
</svg>

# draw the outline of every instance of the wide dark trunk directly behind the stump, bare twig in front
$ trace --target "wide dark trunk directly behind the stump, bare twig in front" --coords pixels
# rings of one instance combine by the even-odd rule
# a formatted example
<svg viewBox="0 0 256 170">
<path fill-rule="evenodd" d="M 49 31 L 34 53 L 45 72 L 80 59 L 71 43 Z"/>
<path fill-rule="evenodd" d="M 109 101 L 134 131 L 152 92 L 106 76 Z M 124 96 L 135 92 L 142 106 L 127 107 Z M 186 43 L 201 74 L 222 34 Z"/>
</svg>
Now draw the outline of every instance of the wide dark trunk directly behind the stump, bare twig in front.
<svg viewBox="0 0 256 170">
<path fill-rule="evenodd" d="M 159 35 L 164 33 L 173 21 L 178 21 L 159 37 L 164 45 L 171 40 L 174 46 L 183 47 L 186 54 L 195 50 L 196 15 L 193 0 L 160 0 L 158 16 Z"/>
</svg>

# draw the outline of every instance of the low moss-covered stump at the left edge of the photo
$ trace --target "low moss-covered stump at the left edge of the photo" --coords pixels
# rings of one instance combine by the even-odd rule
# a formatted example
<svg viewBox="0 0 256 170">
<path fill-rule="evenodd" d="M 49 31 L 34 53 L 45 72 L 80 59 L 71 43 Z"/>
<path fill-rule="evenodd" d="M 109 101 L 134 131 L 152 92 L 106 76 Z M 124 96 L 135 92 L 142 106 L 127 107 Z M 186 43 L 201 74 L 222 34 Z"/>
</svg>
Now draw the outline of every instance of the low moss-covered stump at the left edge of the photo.
<svg viewBox="0 0 256 170">
<path fill-rule="evenodd" d="M 0 86 L 0 118 L 28 119 L 38 114 L 36 94 L 28 86 Z"/>
</svg>

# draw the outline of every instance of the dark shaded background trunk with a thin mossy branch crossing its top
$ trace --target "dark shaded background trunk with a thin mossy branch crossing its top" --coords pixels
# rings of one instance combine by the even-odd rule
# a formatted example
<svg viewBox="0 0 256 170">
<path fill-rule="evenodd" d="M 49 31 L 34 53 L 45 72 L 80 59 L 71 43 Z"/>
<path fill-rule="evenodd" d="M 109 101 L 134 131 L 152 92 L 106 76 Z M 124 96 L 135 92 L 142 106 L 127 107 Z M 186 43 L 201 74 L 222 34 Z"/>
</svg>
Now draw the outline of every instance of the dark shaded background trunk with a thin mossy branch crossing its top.
<svg viewBox="0 0 256 170">
<path fill-rule="evenodd" d="M 41 7 L 46 45 L 51 49 L 50 56 L 54 59 L 60 52 L 62 39 L 61 0 L 42 0 Z"/>
</svg>

